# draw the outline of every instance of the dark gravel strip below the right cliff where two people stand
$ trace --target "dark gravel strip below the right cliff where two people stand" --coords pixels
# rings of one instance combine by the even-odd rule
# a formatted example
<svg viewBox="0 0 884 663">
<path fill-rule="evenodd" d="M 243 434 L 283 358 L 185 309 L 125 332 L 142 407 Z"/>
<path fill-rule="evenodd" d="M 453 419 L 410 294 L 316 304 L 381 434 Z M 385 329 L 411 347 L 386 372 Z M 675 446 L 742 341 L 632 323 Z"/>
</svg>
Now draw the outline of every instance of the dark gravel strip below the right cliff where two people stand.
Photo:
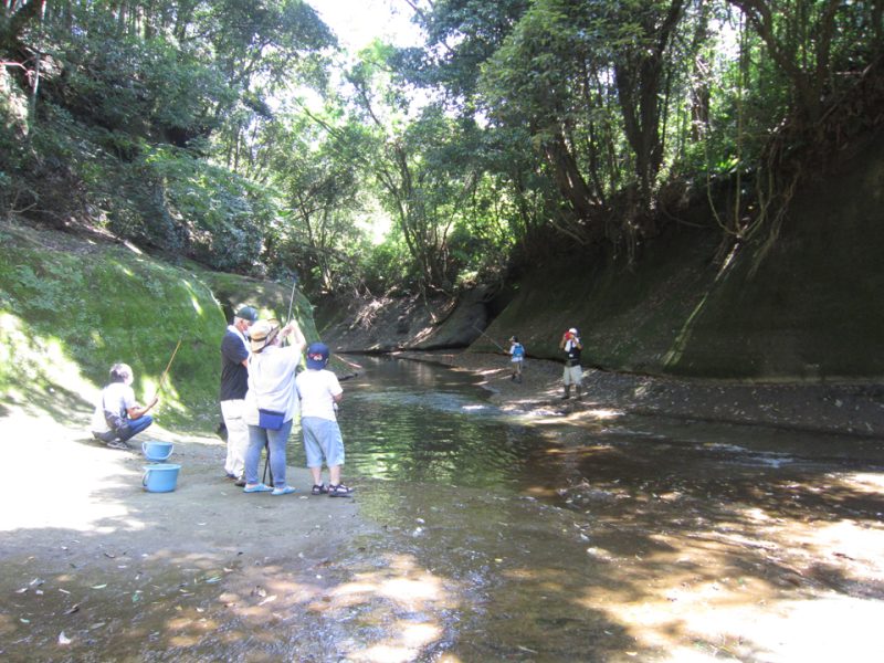
<svg viewBox="0 0 884 663">
<path fill-rule="evenodd" d="M 583 370 L 583 397 L 562 400 L 561 364 L 528 358 L 522 382 L 509 358 L 470 351 L 401 352 L 482 378 L 504 410 L 559 415 L 610 412 L 748 423 L 884 438 L 884 386 L 877 383 L 748 383 Z"/>
</svg>

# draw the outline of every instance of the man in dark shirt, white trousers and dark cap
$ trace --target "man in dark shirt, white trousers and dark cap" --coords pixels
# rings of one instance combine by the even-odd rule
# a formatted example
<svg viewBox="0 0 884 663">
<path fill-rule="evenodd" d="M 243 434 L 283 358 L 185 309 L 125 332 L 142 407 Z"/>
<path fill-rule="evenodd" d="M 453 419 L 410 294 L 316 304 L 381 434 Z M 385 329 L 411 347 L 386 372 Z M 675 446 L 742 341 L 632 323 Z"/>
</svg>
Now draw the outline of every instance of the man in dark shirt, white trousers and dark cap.
<svg viewBox="0 0 884 663">
<path fill-rule="evenodd" d="M 233 316 L 221 339 L 221 415 L 228 429 L 228 453 L 224 472 L 236 485 L 245 485 L 245 450 L 249 446 L 249 428 L 242 412 L 249 389 L 249 327 L 257 320 L 257 311 L 243 306 Z"/>
</svg>

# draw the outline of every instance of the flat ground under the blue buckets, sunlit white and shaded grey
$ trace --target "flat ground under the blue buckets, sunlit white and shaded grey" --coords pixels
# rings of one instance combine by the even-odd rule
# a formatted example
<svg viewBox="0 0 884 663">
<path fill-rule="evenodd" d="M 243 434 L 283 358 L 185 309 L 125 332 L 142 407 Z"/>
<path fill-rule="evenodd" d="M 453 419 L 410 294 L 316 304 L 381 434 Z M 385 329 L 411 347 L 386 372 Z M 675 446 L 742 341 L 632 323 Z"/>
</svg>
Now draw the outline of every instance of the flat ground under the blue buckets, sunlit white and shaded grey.
<svg viewBox="0 0 884 663">
<path fill-rule="evenodd" d="M 327 599 L 322 569 L 371 532 L 356 501 L 305 495 L 308 473 L 291 462 L 298 493 L 245 495 L 223 477 L 219 439 L 148 432 L 175 443 L 175 492 L 143 488 L 140 451 L 48 418 L 0 419 L 0 656 L 145 660 L 224 624 L 222 646 Z"/>
</svg>

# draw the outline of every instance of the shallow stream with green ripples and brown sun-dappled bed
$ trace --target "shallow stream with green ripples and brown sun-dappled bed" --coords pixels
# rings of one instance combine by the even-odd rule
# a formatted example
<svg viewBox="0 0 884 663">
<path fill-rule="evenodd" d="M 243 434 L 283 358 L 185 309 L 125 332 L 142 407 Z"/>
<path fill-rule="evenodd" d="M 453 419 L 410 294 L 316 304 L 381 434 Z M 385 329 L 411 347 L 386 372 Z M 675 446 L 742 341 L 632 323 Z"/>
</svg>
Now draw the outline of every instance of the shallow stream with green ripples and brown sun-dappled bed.
<svg viewBox="0 0 884 663">
<path fill-rule="evenodd" d="M 872 656 L 876 627 L 864 620 L 882 617 L 884 597 L 881 556 L 867 548 L 882 541 L 881 440 L 611 413 L 579 427 L 515 419 L 467 375 L 364 362 L 339 412 L 347 475 L 361 513 L 392 537 L 362 541 L 348 570 L 401 582 L 388 597 L 394 623 L 387 610 L 359 617 L 393 651 Z M 834 638 L 814 631 L 831 604 L 835 619 L 852 614 Z M 422 646 L 409 650 L 409 638 Z"/>
</svg>

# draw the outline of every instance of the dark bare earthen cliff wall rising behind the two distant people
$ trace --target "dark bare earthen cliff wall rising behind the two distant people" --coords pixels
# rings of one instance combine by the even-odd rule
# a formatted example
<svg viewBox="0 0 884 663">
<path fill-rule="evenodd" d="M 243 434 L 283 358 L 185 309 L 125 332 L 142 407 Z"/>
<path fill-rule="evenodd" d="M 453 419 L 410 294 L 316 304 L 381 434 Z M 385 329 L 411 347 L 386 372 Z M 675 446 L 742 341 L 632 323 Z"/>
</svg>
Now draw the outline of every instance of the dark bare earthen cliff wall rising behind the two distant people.
<svg viewBox="0 0 884 663">
<path fill-rule="evenodd" d="M 585 365 L 753 381 L 878 381 L 884 377 L 884 135 L 836 175 L 799 190 L 771 249 L 722 255 L 722 230 L 673 223 L 630 265 L 550 260 L 457 302 L 383 299 L 320 306 L 338 350 L 469 347 L 499 351 L 516 334 L 529 356 L 558 358 L 569 327 Z M 480 329 L 482 332 L 480 332 Z"/>
</svg>

